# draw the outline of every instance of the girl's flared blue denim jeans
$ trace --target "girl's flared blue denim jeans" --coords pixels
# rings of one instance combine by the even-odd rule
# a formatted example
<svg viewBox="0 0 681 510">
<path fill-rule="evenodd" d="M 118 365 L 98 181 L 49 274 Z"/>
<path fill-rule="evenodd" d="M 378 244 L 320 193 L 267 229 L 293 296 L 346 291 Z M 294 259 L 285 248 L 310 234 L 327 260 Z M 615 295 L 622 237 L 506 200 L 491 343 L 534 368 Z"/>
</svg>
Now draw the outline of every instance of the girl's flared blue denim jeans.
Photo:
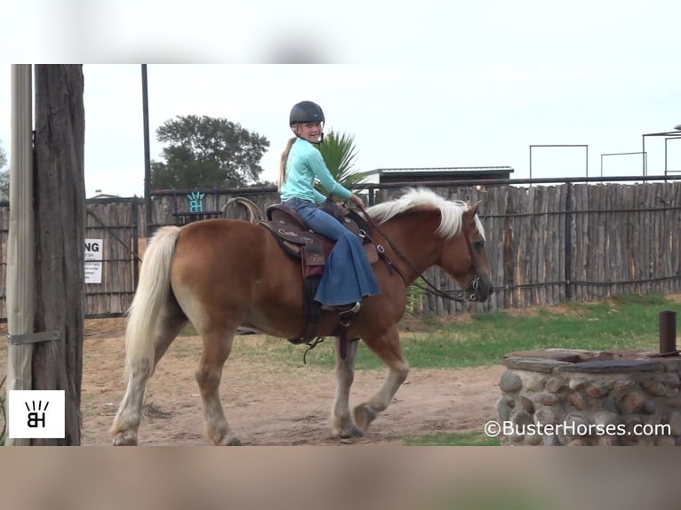
<svg viewBox="0 0 681 510">
<path fill-rule="evenodd" d="M 341 225 L 338 219 L 317 209 L 315 203 L 292 198 L 283 203 L 309 228 L 336 242 L 324 267 L 315 300 L 324 305 L 346 305 L 361 301 L 380 292 L 379 284 L 369 260 L 366 258 L 361 239 Z"/>
</svg>

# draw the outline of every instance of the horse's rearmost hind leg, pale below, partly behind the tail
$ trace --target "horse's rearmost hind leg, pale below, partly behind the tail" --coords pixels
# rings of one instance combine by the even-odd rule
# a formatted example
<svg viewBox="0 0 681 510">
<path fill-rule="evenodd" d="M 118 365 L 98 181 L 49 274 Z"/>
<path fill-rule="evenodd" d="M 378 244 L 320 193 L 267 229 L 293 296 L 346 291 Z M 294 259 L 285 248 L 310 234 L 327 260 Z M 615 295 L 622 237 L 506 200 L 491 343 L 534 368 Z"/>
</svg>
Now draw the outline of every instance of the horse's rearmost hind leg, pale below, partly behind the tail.
<svg viewBox="0 0 681 510">
<path fill-rule="evenodd" d="M 114 445 L 125 446 L 137 444 L 137 431 L 142 417 L 142 401 L 147 381 L 154 373 L 156 364 L 171 345 L 172 340 L 187 323 L 187 318 L 181 313 L 166 312 L 156 323 L 154 334 L 155 360 L 154 366 L 131 367 L 128 376 L 128 386 L 118 407 L 114 424 L 110 434 L 114 437 Z"/>
</svg>

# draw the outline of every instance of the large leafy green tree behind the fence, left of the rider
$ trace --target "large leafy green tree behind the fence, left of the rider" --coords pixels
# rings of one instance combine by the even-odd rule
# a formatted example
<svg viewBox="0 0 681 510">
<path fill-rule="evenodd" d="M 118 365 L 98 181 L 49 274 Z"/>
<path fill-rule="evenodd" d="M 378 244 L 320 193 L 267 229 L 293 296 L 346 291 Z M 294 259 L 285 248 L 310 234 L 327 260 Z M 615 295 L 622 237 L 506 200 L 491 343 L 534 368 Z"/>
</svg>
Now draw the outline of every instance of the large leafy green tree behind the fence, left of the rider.
<svg viewBox="0 0 681 510">
<path fill-rule="evenodd" d="M 168 144 L 151 163 L 151 187 L 236 187 L 256 182 L 269 141 L 224 118 L 177 116 L 156 130 Z"/>
</svg>

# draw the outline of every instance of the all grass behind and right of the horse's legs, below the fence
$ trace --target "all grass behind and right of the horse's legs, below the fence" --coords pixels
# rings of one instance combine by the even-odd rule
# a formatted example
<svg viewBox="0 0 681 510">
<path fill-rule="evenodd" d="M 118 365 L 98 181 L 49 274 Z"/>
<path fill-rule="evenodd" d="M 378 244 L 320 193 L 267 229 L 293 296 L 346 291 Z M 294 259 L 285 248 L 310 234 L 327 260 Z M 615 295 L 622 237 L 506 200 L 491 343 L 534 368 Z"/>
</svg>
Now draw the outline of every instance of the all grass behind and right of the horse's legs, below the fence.
<svg viewBox="0 0 681 510">
<path fill-rule="evenodd" d="M 413 368 L 461 368 L 501 363 L 513 351 L 576 348 L 607 350 L 658 348 L 659 314 L 681 313 L 681 303 L 663 296 L 626 296 L 597 303 L 569 303 L 552 310 L 544 307 L 532 315 L 496 312 L 471 315 L 471 320 L 445 323 L 429 319 L 429 331 L 402 335 L 402 347 Z M 432 323 L 430 321 L 433 321 Z M 329 338 L 308 353 L 308 364 L 332 367 L 335 339 Z M 282 339 L 235 342 L 235 355 L 268 363 L 300 366 L 307 347 Z M 384 365 L 360 342 L 357 370 Z"/>
</svg>

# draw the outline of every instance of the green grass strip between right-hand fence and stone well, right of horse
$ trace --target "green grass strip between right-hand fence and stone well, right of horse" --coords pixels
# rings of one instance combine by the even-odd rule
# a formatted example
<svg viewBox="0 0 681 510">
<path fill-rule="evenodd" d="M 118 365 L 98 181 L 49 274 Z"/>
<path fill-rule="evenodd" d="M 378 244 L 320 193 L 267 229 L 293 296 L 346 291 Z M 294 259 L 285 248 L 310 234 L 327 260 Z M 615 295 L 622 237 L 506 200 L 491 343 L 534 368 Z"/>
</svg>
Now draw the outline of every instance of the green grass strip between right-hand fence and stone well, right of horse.
<svg viewBox="0 0 681 510">
<path fill-rule="evenodd" d="M 561 313 L 545 308 L 527 316 L 477 314 L 472 323 L 405 339 L 405 354 L 412 366 L 445 368 L 499 363 L 512 351 L 549 347 L 654 349 L 661 310 L 681 307 L 660 296 L 646 298 L 573 303 Z"/>
</svg>

